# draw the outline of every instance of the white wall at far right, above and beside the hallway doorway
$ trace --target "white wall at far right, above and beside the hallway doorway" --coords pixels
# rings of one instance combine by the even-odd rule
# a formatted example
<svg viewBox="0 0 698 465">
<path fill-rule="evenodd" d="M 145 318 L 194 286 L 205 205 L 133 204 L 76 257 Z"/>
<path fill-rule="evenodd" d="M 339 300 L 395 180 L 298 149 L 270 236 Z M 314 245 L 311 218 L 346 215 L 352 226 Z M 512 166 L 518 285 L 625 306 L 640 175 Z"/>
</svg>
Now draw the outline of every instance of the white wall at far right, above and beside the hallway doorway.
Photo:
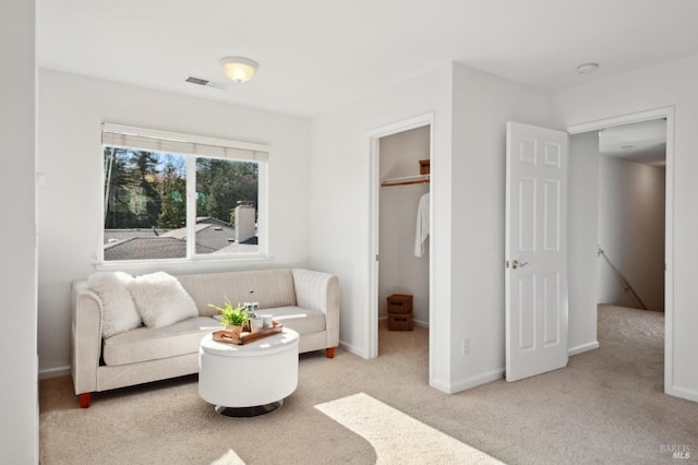
<svg viewBox="0 0 698 465">
<path fill-rule="evenodd" d="M 553 102 L 565 126 L 613 118 L 649 109 L 674 107 L 673 166 L 673 258 L 667 273 L 673 274 L 673 315 L 666 310 L 666 332 L 673 336 L 665 371 L 667 393 L 698 401 L 698 156 L 695 129 L 698 127 L 698 57 L 627 73 L 580 87 L 561 91 Z M 667 172 L 671 170 L 667 167 Z M 667 192 L 671 198 L 672 192 Z"/>
</svg>

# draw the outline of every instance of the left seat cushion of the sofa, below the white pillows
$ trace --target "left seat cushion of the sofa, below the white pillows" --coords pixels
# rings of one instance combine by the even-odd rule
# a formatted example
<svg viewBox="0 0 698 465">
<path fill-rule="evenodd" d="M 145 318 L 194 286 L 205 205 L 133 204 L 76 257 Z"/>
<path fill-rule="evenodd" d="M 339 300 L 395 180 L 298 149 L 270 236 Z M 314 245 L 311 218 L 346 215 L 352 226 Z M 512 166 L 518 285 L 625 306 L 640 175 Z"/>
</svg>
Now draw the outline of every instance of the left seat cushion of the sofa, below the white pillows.
<svg viewBox="0 0 698 465">
<path fill-rule="evenodd" d="M 104 341 L 103 357 L 107 366 L 177 357 L 198 351 L 205 334 L 220 330 L 213 318 L 196 317 L 166 327 L 136 327 Z"/>
</svg>

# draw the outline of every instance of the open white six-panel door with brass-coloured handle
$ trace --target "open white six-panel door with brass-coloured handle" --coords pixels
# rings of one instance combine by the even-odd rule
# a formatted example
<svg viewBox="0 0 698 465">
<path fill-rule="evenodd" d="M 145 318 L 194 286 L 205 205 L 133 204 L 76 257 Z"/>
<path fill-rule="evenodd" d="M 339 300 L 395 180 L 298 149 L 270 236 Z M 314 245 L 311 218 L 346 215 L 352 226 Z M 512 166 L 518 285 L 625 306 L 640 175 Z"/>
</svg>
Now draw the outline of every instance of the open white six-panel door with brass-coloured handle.
<svg viewBox="0 0 698 465">
<path fill-rule="evenodd" d="M 567 133 L 507 123 L 506 380 L 567 365 Z"/>
</svg>

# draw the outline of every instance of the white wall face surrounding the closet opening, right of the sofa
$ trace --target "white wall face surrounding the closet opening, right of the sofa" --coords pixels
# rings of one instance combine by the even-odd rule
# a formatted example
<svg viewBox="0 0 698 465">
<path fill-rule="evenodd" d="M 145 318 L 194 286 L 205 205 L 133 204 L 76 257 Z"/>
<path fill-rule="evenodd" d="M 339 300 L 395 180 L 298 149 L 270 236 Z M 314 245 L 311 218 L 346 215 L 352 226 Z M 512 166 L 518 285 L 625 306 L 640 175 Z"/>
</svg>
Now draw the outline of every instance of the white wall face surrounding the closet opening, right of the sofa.
<svg viewBox="0 0 698 465">
<path fill-rule="evenodd" d="M 312 123 L 310 262 L 339 276 L 340 343 L 369 357 L 369 132 L 434 112 L 432 153 L 432 302 L 430 382 L 448 389 L 450 320 L 450 88 L 445 64 L 371 95 Z"/>
</svg>

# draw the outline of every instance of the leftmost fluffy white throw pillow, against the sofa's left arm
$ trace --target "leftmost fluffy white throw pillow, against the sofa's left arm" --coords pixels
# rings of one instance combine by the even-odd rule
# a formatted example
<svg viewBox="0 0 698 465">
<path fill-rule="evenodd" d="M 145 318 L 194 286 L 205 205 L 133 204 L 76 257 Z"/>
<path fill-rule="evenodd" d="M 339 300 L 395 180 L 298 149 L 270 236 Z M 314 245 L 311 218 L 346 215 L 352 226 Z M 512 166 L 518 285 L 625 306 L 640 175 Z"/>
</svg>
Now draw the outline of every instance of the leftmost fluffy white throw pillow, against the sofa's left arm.
<svg viewBox="0 0 698 465">
<path fill-rule="evenodd" d="M 133 276 L 123 272 L 95 273 L 87 285 L 101 300 L 101 337 L 111 337 L 142 323 L 127 284 Z"/>
</svg>

